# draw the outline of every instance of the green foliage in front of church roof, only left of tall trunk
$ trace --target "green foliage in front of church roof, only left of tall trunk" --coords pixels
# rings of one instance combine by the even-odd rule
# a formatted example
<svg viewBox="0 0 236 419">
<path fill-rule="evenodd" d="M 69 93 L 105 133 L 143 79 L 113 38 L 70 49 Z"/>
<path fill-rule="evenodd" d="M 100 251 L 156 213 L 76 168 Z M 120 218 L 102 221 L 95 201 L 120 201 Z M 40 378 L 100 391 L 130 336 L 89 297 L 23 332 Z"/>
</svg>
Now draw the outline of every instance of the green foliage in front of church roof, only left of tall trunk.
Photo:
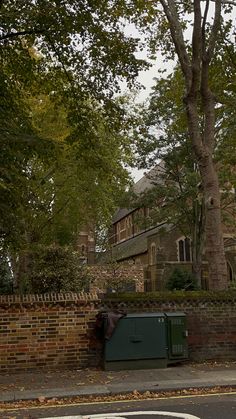
<svg viewBox="0 0 236 419">
<path fill-rule="evenodd" d="M 156 79 L 149 101 L 140 109 L 134 136 L 141 167 L 152 167 L 161 160 L 157 170 L 154 168 L 149 174 L 152 188 L 139 197 L 139 205 L 152 208 L 154 224 L 164 220 L 191 237 L 201 219 L 202 202 L 183 95 L 183 77 L 178 67 L 171 75 Z"/>
</svg>

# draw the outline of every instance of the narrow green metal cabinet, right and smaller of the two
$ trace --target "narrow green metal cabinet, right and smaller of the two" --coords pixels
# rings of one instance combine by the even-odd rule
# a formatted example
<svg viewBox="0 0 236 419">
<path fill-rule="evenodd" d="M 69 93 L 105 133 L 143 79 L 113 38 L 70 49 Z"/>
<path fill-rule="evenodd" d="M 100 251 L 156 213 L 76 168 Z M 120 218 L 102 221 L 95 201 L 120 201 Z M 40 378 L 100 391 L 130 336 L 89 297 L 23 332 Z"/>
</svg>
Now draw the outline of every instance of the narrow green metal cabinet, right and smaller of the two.
<svg viewBox="0 0 236 419">
<path fill-rule="evenodd" d="M 168 364 L 188 359 L 187 321 L 182 312 L 165 313 L 167 326 Z"/>
</svg>

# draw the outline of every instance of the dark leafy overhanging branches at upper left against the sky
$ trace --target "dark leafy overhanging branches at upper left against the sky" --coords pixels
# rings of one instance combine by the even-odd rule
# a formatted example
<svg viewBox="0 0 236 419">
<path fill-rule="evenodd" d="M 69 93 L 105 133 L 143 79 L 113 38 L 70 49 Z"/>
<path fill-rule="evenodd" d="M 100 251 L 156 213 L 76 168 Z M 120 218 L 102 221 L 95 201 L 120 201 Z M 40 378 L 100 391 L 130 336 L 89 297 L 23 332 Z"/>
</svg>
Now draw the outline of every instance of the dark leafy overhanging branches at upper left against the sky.
<svg viewBox="0 0 236 419">
<path fill-rule="evenodd" d="M 124 33 L 123 9 L 123 1 L 112 0 L 4 0 L 0 42 L 8 75 L 11 70 L 32 88 L 36 68 L 54 89 L 76 100 L 77 109 L 88 97 L 109 102 L 120 91 L 119 79 L 131 83 L 147 66 L 135 57 L 138 39 Z M 63 72 L 64 83 L 55 69 Z M 88 121 L 86 113 L 83 118 Z"/>
</svg>

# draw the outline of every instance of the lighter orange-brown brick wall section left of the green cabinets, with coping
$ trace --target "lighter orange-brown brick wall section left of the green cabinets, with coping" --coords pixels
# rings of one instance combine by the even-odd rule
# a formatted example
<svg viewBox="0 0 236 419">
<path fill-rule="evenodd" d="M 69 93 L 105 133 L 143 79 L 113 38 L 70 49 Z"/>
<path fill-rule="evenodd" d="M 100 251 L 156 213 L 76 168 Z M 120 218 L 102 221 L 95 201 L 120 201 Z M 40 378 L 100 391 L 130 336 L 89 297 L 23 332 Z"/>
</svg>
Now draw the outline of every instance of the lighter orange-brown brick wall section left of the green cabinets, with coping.
<svg viewBox="0 0 236 419">
<path fill-rule="evenodd" d="M 96 364 L 93 295 L 0 296 L 0 370 Z"/>
</svg>

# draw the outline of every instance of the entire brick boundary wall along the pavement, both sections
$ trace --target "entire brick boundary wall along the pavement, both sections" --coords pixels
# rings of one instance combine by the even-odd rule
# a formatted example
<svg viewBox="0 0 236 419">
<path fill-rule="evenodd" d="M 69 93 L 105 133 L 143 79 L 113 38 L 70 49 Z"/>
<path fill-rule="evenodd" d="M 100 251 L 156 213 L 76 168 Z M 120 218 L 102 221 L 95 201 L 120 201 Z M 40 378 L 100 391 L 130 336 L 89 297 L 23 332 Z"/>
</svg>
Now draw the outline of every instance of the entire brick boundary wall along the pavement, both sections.
<svg viewBox="0 0 236 419">
<path fill-rule="evenodd" d="M 0 370 L 98 365 L 94 335 L 101 305 L 127 312 L 183 311 L 192 360 L 236 359 L 236 295 L 163 300 L 104 300 L 86 294 L 0 296 Z"/>
</svg>

